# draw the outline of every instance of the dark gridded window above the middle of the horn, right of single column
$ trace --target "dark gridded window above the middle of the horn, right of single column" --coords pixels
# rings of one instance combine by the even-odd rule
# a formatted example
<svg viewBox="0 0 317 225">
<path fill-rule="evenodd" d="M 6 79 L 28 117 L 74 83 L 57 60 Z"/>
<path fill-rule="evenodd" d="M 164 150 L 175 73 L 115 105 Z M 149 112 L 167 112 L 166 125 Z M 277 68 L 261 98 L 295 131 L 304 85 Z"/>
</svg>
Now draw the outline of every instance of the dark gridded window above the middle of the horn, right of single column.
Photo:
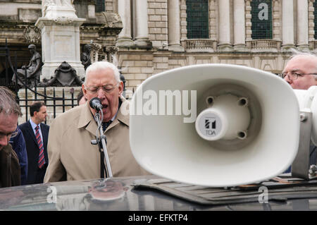
<svg viewBox="0 0 317 225">
<path fill-rule="evenodd" d="M 187 38 L 209 38 L 208 0 L 186 0 Z"/>
</svg>

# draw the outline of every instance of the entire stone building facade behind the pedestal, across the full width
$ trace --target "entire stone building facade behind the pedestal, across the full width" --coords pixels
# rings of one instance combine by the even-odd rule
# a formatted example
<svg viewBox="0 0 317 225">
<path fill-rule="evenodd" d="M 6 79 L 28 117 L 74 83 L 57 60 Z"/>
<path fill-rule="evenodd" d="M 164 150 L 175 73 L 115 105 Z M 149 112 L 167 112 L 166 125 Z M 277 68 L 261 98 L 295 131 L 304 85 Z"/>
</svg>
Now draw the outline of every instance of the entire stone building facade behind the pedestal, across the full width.
<svg viewBox="0 0 317 225">
<path fill-rule="evenodd" d="M 315 0 L 74 0 L 73 4 L 78 18 L 86 19 L 80 27 L 80 44 L 93 43 L 97 60 L 117 63 L 129 90 L 156 73 L 198 63 L 233 63 L 280 73 L 290 49 L 317 49 Z M 28 43 L 40 49 L 35 22 L 41 16 L 41 1 L 0 0 L 0 8 L 0 44 L 8 37 L 13 50 L 18 49 L 20 66 L 29 60 Z M 206 22 L 202 35 L 200 20 Z"/>
</svg>

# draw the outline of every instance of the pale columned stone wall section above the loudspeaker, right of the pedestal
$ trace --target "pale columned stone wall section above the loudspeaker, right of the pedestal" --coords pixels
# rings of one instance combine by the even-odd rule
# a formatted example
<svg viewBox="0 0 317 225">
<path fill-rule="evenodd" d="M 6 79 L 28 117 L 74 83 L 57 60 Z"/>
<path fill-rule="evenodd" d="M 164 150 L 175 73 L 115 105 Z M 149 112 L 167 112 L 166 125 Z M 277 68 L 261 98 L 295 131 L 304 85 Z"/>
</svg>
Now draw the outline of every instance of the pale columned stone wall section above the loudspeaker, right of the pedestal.
<svg viewBox="0 0 317 225">
<path fill-rule="evenodd" d="M 123 31 L 117 42 L 118 61 L 128 88 L 135 88 L 145 78 L 161 71 L 198 63 L 233 63 L 280 73 L 291 55 L 290 49 L 316 51 L 313 0 L 196 3 L 208 6 L 208 35 L 203 38 L 188 35 L 187 13 L 193 7 L 188 0 L 116 1 L 123 19 Z M 260 8 L 261 3 L 268 8 Z M 260 8 L 259 16 L 270 13 L 266 16 L 271 23 L 271 37 L 252 35 L 256 29 L 252 23 L 257 23 L 252 20 L 255 6 Z M 143 19 L 137 20 L 134 12 Z M 149 43 L 138 44 L 140 38 Z"/>
</svg>

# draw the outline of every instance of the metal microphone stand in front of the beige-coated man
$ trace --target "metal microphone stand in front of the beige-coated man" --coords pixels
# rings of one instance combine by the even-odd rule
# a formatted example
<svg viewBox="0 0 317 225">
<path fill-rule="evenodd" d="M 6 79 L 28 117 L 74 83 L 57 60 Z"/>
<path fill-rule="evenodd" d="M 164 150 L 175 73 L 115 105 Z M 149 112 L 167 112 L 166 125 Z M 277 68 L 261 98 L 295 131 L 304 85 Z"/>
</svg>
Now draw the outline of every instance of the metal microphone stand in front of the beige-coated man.
<svg viewBox="0 0 317 225">
<path fill-rule="evenodd" d="M 100 119 L 99 111 L 101 112 L 101 119 Z M 106 135 L 104 135 L 104 130 L 102 130 L 102 126 L 101 126 L 101 121 L 104 118 L 104 114 L 102 110 L 99 110 L 99 111 L 97 110 L 96 114 L 94 115 L 94 120 L 97 122 L 98 128 L 96 133 L 97 140 L 92 140 L 92 145 L 98 144 L 99 152 L 104 152 L 104 164 L 106 164 L 106 177 L 112 178 L 113 175 L 112 175 L 110 160 L 108 157 L 108 151 L 106 147 Z M 98 130 L 99 130 L 99 135 L 98 135 Z"/>
</svg>

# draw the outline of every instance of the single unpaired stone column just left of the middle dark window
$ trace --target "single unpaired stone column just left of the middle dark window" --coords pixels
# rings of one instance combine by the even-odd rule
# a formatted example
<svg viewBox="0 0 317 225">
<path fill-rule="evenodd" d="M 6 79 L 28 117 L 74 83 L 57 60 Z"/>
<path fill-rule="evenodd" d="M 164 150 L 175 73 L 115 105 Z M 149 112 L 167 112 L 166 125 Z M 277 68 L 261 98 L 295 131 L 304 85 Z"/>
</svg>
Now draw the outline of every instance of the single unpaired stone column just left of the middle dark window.
<svg viewBox="0 0 317 225">
<path fill-rule="evenodd" d="M 168 1 L 168 49 L 184 51 L 180 46 L 180 1 Z"/>
</svg>

